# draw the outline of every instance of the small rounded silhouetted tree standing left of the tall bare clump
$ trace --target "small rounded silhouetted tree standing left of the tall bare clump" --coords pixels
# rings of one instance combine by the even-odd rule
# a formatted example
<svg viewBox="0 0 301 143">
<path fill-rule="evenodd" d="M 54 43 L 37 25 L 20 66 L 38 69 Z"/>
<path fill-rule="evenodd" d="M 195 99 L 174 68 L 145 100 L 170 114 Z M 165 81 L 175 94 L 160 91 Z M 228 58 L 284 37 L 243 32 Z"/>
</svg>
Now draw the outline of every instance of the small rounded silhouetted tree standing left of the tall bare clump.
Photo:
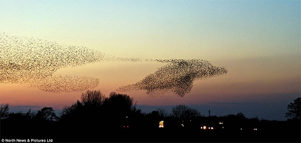
<svg viewBox="0 0 301 143">
<path fill-rule="evenodd" d="M 58 117 L 56 116 L 52 107 L 44 107 L 37 112 L 35 118 L 41 120 L 53 121 L 56 120 Z"/>
</svg>

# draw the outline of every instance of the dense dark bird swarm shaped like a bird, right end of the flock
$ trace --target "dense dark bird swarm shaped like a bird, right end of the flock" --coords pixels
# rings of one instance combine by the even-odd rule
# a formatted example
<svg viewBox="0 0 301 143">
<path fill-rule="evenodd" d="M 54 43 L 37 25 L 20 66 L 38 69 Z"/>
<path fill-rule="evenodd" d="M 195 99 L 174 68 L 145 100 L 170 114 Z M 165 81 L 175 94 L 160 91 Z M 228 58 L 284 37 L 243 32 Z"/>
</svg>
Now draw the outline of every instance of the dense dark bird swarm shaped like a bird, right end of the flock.
<svg viewBox="0 0 301 143">
<path fill-rule="evenodd" d="M 213 66 L 208 61 L 192 59 L 155 60 L 168 63 L 143 80 L 123 86 L 117 91 L 146 90 L 149 95 L 157 96 L 166 92 L 183 97 L 192 89 L 193 82 L 213 76 L 226 74 L 224 67 Z"/>
</svg>

